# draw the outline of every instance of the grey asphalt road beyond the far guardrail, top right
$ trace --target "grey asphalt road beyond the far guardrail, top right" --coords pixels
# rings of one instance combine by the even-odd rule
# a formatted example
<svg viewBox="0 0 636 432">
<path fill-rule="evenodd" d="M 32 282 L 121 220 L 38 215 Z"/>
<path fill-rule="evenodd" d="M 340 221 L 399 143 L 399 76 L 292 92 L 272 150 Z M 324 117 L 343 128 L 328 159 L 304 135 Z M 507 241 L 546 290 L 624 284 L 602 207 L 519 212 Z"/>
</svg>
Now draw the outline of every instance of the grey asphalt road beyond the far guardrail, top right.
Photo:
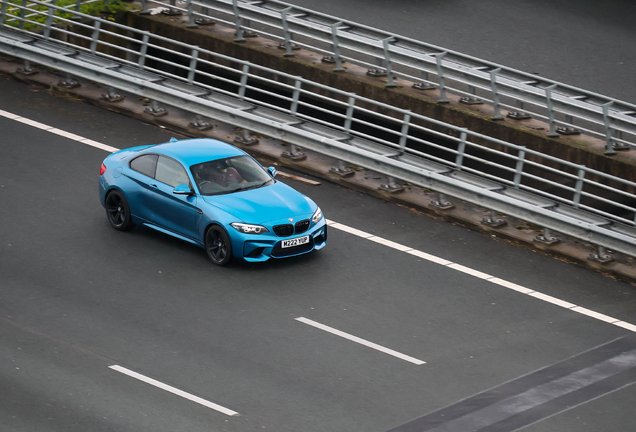
<svg viewBox="0 0 636 432">
<path fill-rule="evenodd" d="M 286 0 L 636 103 L 632 0 Z"/>
</svg>

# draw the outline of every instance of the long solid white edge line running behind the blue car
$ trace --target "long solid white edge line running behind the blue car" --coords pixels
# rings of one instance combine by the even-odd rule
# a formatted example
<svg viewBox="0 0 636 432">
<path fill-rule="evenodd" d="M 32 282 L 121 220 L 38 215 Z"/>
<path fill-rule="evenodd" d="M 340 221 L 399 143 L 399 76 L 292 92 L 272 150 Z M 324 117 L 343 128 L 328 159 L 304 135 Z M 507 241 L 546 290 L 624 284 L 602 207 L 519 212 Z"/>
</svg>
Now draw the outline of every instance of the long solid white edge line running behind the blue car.
<svg viewBox="0 0 636 432">
<path fill-rule="evenodd" d="M 8 119 L 11 119 L 11 120 L 20 121 L 22 123 L 25 123 L 25 124 L 28 124 L 28 125 L 31 125 L 31 126 L 39 127 L 40 129 L 45 129 L 45 130 L 49 130 L 49 131 L 51 129 L 55 129 L 52 126 L 47 126 L 45 124 L 42 124 L 42 123 L 39 123 L 39 122 L 36 122 L 36 121 L 33 121 L 33 120 L 26 119 L 24 117 L 20 117 L 20 116 L 18 116 L 16 114 L 12 114 L 10 112 L 3 111 L 3 110 L 0 110 L 0 116 L 8 118 Z M 56 130 L 59 130 L 59 129 L 56 129 Z M 99 148 L 101 150 L 105 150 L 105 151 L 108 151 L 108 152 L 111 152 L 111 153 L 116 152 L 116 151 L 119 150 L 119 149 L 117 149 L 115 147 L 111 147 L 111 146 L 106 145 L 106 144 L 98 143 L 98 142 L 90 140 L 88 138 L 82 138 L 82 137 L 79 137 L 78 135 L 75 135 L 75 134 L 70 134 L 70 135 L 73 135 L 74 137 L 79 138 L 78 141 L 80 143 L 89 145 L 91 147 L 96 147 L 96 148 Z M 333 220 L 326 219 L 326 221 L 327 221 L 327 225 L 328 226 L 333 227 L 335 229 L 338 229 L 340 231 L 344 231 L 344 232 L 347 232 L 349 234 L 353 234 L 355 236 L 358 236 L 358 237 L 361 237 L 361 238 L 364 238 L 364 239 L 373 240 L 373 241 L 375 241 L 377 243 L 380 243 L 380 244 L 383 244 L 385 246 L 389 246 L 389 247 L 392 247 L 394 249 L 406 252 L 408 254 L 417 256 L 417 257 L 422 258 L 424 260 L 427 260 L 427 261 L 430 261 L 430 262 L 434 262 L 436 264 L 440 264 L 440 265 L 452 268 L 454 270 L 462 271 L 462 272 L 464 272 L 466 274 L 470 274 L 472 276 L 479 277 L 481 279 L 487 280 L 489 282 L 492 282 L 494 284 L 500 285 L 502 287 L 505 287 L 505 288 L 520 292 L 522 294 L 526 294 L 526 295 L 535 297 L 535 298 L 543 300 L 545 302 L 554 304 L 554 305 L 559 306 L 559 307 L 563 307 L 565 309 L 569 309 L 571 311 L 574 311 L 574 312 L 589 316 L 591 318 L 598 319 L 600 321 L 608 322 L 608 323 L 613 324 L 615 326 L 618 326 L 618 327 L 621 327 L 621 328 L 624 328 L 626 330 L 629 330 L 629 331 L 632 331 L 632 332 L 636 333 L 636 325 L 634 325 L 634 324 L 630 324 L 630 323 L 627 323 L 627 322 L 624 322 L 624 321 L 620 321 L 618 319 L 609 317 L 607 315 L 603 315 L 603 314 L 598 313 L 598 312 L 590 311 L 589 309 L 585 309 L 583 307 L 577 306 L 577 305 L 575 305 L 573 303 L 570 303 L 570 302 L 567 302 L 565 300 L 560 300 L 558 298 L 549 296 L 547 294 L 543 294 L 543 293 L 540 293 L 538 291 L 534 291 L 534 290 L 532 290 L 530 288 L 526 288 L 524 286 L 517 285 L 515 283 L 505 281 L 505 280 L 500 279 L 498 277 L 490 276 L 490 275 L 488 275 L 486 273 L 482 273 L 482 272 L 480 272 L 478 270 L 470 269 L 468 267 L 462 266 L 461 264 L 457 264 L 457 263 L 454 263 L 452 261 L 448 261 L 448 260 L 446 260 L 444 258 L 440 258 L 440 257 L 437 257 L 435 255 L 428 254 L 426 252 L 418 251 L 416 249 L 411 249 L 408 246 L 404 246 L 404 245 L 401 245 L 399 243 L 394 243 L 394 242 L 392 242 L 390 240 L 386 240 L 386 239 L 383 239 L 381 237 L 374 236 L 373 234 L 369 234 L 367 232 L 360 231 L 358 229 L 352 228 L 352 227 L 347 226 L 347 225 L 343 225 L 343 224 L 335 222 Z"/>
</svg>

